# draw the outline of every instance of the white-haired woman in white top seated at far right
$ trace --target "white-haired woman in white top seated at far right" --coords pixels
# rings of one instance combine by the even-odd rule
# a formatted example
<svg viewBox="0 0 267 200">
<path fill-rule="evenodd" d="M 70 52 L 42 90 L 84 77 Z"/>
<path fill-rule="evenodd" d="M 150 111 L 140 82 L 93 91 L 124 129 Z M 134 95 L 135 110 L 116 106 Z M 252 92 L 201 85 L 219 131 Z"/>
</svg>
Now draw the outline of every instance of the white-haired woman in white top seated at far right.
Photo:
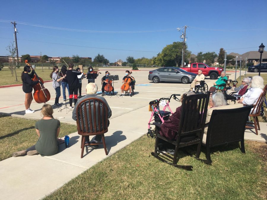
<svg viewBox="0 0 267 200">
<path fill-rule="evenodd" d="M 249 90 L 240 98 L 240 100 L 238 100 L 238 103 L 243 103 L 246 105 L 254 105 L 255 103 L 257 103 L 264 88 L 263 82 L 264 81 L 261 76 L 253 76 L 250 84 L 251 88 L 249 88 Z M 256 109 L 254 110 L 254 112 L 256 112 Z"/>
</svg>

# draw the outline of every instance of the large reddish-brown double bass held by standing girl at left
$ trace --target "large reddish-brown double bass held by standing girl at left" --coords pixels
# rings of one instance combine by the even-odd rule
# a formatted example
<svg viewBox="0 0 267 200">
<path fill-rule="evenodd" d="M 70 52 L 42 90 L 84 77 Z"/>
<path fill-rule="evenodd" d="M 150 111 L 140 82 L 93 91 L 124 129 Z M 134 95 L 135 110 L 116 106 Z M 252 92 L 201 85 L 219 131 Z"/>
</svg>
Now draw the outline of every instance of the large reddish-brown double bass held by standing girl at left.
<svg viewBox="0 0 267 200">
<path fill-rule="evenodd" d="M 44 87 L 44 81 L 40 77 L 38 77 L 37 73 L 33 70 L 28 60 L 25 60 L 25 64 L 31 67 L 32 71 L 34 72 L 34 77 L 32 78 L 33 81 L 39 81 L 38 84 L 33 86 L 34 89 L 34 100 L 36 103 L 46 103 L 50 100 L 50 93 L 48 89 Z"/>
</svg>

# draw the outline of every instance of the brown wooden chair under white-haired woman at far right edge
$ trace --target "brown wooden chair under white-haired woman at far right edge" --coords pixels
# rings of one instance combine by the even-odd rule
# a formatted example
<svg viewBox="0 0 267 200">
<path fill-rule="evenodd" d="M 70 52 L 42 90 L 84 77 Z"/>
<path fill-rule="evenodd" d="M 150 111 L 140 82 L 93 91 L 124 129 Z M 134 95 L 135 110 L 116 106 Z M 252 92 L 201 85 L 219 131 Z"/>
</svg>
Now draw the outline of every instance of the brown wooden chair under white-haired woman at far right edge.
<svg viewBox="0 0 267 200">
<path fill-rule="evenodd" d="M 250 121 L 247 122 L 247 124 L 254 124 L 256 135 L 258 135 L 258 129 L 260 130 L 260 123 L 258 120 L 258 116 L 261 115 L 260 111 L 261 111 L 261 107 L 263 104 L 263 100 L 264 100 L 265 95 L 266 95 L 266 88 L 267 88 L 267 85 L 265 85 L 263 91 L 260 94 L 260 97 L 258 98 L 257 103 L 255 105 L 253 105 L 254 108 L 252 109 L 251 114 L 249 114 L 250 117 L 253 117 L 253 122 L 250 122 Z M 255 112 L 255 114 L 252 114 L 254 112 Z M 258 128 L 257 128 L 257 126 L 258 126 Z M 246 126 L 246 128 L 252 128 L 252 127 Z"/>
</svg>

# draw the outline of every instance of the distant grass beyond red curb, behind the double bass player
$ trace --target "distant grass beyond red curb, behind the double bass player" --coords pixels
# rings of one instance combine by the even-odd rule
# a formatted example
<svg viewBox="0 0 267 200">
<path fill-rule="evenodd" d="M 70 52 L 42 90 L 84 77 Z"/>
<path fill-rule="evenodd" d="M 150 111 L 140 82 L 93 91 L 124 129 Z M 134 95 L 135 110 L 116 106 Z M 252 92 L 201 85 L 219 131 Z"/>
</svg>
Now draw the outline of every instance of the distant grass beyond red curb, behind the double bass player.
<svg viewBox="0 0 267 200">
<path fill-rule="evenodd" d="M 14 76 L 11 75 L 11 72 L 9 70 L 9 68 L 3 68 L 0 71 L 0 86 L 1 85 L 13 85 L 13 84 L 22 84 L 21 81 L 21 73 L 23 71 L 23 68 L 16 68 L 16 72 L 17 72 L 17 78 L 18 81 L 16 81 L 15 78 L 15 72 L 14 72 Z M 44 71 L 42 71 L 42 69 L 35 69 L 37 75 L 39 77 L 41 77 L 44 81 L 48 81 L 48 80 L 52 80 L 50 78 L 50 73 L 52 72 L 52 69 L 48 69 L 48 68 L 44 68 Z"/>
</svg>

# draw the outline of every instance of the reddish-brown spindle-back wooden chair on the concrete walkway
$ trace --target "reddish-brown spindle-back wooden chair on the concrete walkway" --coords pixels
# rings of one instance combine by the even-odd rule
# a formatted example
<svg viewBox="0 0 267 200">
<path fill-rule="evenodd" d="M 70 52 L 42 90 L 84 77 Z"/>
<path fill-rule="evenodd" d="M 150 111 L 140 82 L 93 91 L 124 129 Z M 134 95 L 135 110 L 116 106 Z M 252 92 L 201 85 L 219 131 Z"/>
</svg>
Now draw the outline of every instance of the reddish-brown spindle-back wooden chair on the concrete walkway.
<svg viewBox="0 0 267 200">
<path fill-rule="evenodd" d="M 89 106 L 88 106 L 89 105 Z M 104 145 L 106 155 L 107 147 L 104 133 L 108 132 L 108 108 L 107 104 L 98 98 L 87 98 L 82 100 L 76 108 L 77 131 L 82 135 L 81 158 L 85 147 L 85 136 L 101 135 L 102 142 L 91 143 L 90 145 Z"/>
</svg>

